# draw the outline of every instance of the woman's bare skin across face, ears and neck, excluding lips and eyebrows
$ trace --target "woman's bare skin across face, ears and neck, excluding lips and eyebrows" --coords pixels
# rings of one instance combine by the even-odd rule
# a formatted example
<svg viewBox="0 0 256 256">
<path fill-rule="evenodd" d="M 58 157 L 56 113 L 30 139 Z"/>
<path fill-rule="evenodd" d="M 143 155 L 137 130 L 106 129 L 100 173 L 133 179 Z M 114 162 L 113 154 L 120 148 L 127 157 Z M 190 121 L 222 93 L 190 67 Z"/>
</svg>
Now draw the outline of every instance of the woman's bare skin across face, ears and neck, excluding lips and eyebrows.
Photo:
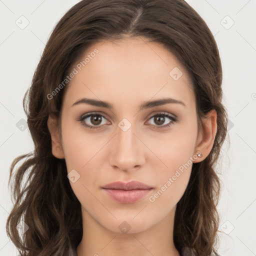
<svg viewBox="0 0 256 256">
<path fill-rule="evenodd" d="M 83 221 L 77 256 L 178 256 L 173 243 L 174 213 L 188 184 L 192 163 L 179 171 L 176 180 L 153 202 L 149 196 L 189 157 L 199 162 L 209 154 L 216 134 L 216 111 L 207 114 L 200 131 L 189 74 L 161 44 L 143 37 L 96 42 L 82 59 L 95 48 L 99 52 L 65 88 L 61 127 L 54 118 L 48 118 L 52 154 L 65 158 L 67 172 L 75 169 L 80 175 L 74 183 L 70 181 L 81 203 Z M 182 71 L 177 80 L 169 75 L 174 67 Z M 113 108 L 85 103 L 72 106 L 83 97 L 107 101 Z M 148 100 L 166 97 L 185 106 L 167 103 L 139 110 Z M 106 117 L 102 117 L 101 125 L 90 117 L 78 120 L 93 111 Z M 152 116 L 159 112 L 176 115 L 177 121 L 155 128 L 170 122 L 164 117 L 163 124 L 157 125 Z M 118 126 L 123 118 L 131 124 L 126 131 Z M 89 129 L 82 125 L 84 122 L 100 127 Z M 202 157 L 196 157 L 197 151 Z M 116 180 L 138 180 L 153 189 L 134 203 L 120 203 L 101 189 Z M 130 227 L 126 233 L 118 228 L 123 221 Z"/>
</svg>

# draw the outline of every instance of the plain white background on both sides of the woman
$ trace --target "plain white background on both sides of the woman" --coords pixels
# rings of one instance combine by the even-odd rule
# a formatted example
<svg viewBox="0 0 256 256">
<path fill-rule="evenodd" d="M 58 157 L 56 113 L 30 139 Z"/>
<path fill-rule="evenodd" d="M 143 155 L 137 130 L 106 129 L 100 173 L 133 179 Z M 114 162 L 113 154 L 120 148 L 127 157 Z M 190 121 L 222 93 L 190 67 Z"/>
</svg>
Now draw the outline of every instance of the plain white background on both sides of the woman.
<svg viewBox="0 0 256 256">
<path fill-rule="evenodd" d="M 33 149 L 28 129 L 20 130 L 20 119 L 26 119 L 23 95 L 53 26 L 76 2 L 0 0 L 0 256 L 16 255 L 5 232 L 12 206 L 9 166 L 14 157 Z M 218 252 L 221 256 L 256 255 L 256 1 L 187 2 L 215 36 L 223 67 L 230 146 L 224 144 L 217 169 L 223 186 L 219 229 L 225 232 L 219 235 Z M 21 23 L 21 15 L 29 21 L 24 29 L 15 23 Z"/>
</svg>

